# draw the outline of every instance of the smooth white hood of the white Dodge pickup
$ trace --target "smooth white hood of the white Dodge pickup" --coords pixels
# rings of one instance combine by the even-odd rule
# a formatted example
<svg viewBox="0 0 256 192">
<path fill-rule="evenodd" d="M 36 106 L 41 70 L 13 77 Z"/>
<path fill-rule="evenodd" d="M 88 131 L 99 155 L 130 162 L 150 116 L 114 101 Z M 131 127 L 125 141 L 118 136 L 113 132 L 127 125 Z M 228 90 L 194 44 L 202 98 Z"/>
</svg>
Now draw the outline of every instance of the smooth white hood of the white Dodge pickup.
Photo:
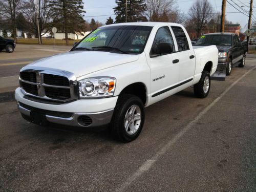
<svg viewBox="0 0 256 192">
<path fill-rule="evenodd" d="M 29 67 L 46 67 L 69 71 L 76 77 L 138 60 L 138 55 L 104 51 L 70 51 L 30 63 Z"/>
</svg>

